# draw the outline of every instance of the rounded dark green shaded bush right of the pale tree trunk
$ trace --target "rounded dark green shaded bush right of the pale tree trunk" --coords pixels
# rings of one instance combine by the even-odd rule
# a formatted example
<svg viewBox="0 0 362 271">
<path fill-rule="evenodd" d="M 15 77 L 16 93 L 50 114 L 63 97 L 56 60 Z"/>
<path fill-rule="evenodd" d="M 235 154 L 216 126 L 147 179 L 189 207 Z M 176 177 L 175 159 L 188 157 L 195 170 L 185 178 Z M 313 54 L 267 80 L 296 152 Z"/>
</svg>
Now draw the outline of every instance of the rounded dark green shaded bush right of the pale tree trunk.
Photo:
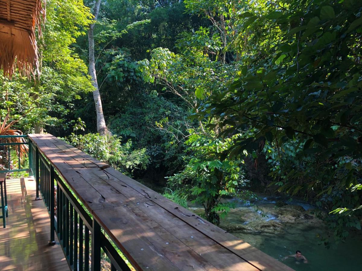
<svg viewBox="0 0 362 271">
<path fill-rule="evenodd" d="M 154 92 L 143 94 L 109 120 L 110 130 L 131 139 L 137 148 L 146 148 L 155 176 L 172 175 L 184 167 L 185 134 L 192 123 L 188 111 Z"/>
</svg>

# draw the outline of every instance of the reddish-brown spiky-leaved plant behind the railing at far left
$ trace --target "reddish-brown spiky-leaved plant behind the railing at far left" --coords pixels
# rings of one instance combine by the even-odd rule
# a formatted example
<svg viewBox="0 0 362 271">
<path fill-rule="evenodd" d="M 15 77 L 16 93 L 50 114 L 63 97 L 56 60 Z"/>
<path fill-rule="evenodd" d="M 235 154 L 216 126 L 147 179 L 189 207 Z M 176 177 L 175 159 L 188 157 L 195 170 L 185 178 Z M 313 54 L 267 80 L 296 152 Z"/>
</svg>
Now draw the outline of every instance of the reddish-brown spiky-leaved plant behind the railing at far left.
<svg viewBox="0 0 362 271">
<path fill-rule="evenodd" d="M 13 120 L 10 121 L 9 124 L 7 124 L 9 120 L 9 114 L 5 116 L 4 121 L 1 123 L 1 116 L 0 116 L 0 136 L 21 136 L 22 132 L 20 130 L 16 130 L 16 129 L 10 129 L 11 126 L 13 126 L 18 120 Z M 9 143 L 22 143 L 22 142 L 26 142 L 25 139 L 23 137 L 10 137 L 10 138 L 6 138 L 6 140 Z M 4 141 L 4 139 L 0 139 L 0 143 L 6 143 L 6 142 L 2 142 Z M 9 161 L 9 158 L 6 157 L 6 153 L 7 153 L 7 148 L 9 146 L 0 146 L 0 148 L 2 147 L 2 149 L 0 149 L 1 154 L 0 155 L 0 167 L 1 164 L 6 164 Z M 26 156 L 28 156 L 28 152 L 29 152 L 29 147 L 26 144 L 22 144 L 22 145 L 15 145 L 14 149 L 16 151 L 16 154 L 18 156 L 20 156 L 21 160 L 24 160 L 24 158 Z"/>
</svg>

